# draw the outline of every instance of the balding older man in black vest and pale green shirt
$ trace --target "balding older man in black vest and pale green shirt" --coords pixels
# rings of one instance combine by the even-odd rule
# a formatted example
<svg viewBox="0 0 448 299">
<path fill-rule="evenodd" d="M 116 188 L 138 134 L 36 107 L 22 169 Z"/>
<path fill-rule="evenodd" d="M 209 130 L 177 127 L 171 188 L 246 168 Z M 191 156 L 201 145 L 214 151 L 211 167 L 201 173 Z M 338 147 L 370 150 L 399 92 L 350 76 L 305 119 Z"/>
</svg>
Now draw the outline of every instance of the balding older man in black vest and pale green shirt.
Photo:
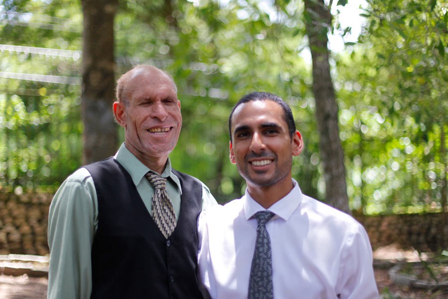
<svg viewBox="0 0 448 299">
<path fill-rule="evenodd" d="M 51 203 L 48 298 L 201 298 L 197 216 L 216 201 L 168 157 L 182 127 L 176 85 L 138 65 L 116 99 L 124 143 L 71 174 Z"/>
</svg>

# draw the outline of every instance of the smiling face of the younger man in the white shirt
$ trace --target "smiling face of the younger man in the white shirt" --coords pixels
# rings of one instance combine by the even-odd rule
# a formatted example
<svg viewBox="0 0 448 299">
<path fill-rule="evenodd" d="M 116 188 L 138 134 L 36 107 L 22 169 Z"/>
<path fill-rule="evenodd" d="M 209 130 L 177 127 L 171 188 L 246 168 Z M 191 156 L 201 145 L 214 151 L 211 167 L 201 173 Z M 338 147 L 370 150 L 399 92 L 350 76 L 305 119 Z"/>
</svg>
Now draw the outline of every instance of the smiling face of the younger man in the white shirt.
<svg viewBox="0 0 448 299">
<path fill-rule="evenodd" d="M 296 135 L 291 138 L 278 103 L 255 100 L 239 105 L 232 116 L 231 135 L 230 161 L 248 186 L 291 180 L 292 157 L 300 153 L 299 143 Z"/>
</svg>

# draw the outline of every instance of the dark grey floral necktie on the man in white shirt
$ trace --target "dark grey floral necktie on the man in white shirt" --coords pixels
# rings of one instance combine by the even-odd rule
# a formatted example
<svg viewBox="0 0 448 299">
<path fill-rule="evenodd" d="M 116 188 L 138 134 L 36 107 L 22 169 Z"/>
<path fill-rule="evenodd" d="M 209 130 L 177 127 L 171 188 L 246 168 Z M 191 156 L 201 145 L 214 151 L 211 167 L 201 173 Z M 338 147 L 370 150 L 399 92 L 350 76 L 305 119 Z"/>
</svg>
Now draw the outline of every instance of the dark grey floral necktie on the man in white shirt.
<svg viewBox="0 0 448 299">
<path fill-rule="evenodd" d="M 274 298 L 272 287 L 271 240 L 266 230 L 266 222 L 273 216 L 274 213 L 271 211 L 260 211 L 253 216 L 257 219 L 258 226 L 252 267 L 250 268 L 248 299 Z"/>
</svg>

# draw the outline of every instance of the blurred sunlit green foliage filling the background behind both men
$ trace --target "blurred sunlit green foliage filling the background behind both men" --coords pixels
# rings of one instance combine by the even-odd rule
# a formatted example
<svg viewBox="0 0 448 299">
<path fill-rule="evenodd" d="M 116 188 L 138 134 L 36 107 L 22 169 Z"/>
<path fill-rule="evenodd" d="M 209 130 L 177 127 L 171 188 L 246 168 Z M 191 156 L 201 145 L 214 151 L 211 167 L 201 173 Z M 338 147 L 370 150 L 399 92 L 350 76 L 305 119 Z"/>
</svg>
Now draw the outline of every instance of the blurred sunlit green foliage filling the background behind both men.
<svg viewBox="0 0 448 299">
<path fill-rule="evenodd" d="M 268 8 L 255 0 L 119 4 L 117 76 L 150 63 L 178 85 L 183 130 L 170 155 L 177 169 L 203 180 L 221 202 L 239 197 L 245 185 L 228 159 L 227 117 L 244 94 L 269 91 L 291 105 L 305 140 L 293 176 L 305 194 L 322 198 L 311 66 L 300 56 L 302 1 Z M 360 43 L 347 43 L 352 52 L 332 58 L 350 206 L 369 214 L 440 210 L 447 169 L 441 153 L 448 131 L 446 7 L 435 0 L 368 4 Z M 0 78 L 0 189 L 54 191 L 82 163 L 80 3 L 7 0 L 0 9 L 0 44 L 23 47 L 0 48 L 0 70 L 8 74 Z M 71 83 L 13 79 L 16 74 Z"/>
</svg>

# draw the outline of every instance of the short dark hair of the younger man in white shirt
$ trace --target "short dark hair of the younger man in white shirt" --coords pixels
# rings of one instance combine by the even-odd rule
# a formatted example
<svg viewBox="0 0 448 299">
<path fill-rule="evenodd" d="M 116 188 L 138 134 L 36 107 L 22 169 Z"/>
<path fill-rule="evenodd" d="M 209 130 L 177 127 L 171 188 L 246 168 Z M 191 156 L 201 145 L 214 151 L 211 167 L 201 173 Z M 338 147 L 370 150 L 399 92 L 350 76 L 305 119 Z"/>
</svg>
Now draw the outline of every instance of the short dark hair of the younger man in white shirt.
<svg viewBox="0 0 448 299">
<path fill-rule="evenodd" d="M 232 116 L 233 112 L 235 112 L 236 110 L 236 107 L 251 101 L 267 101 L 267 100 L 276 102 L 282 107 L 285 121 L 288 124 L 289 135 L 291 136 L 291 138 L 293 137 L 294 133 L 296 132 L 296 123 L 294 122 L 294 117 L 289 105 L 285 101 L 283 101 L 279 96 L 276 96 L 268 92 L 256 91 L 245 95 L 235 104 L 235 106 L 233 106 L 232 112 L 228 117 L 228 133 L 230 136 L 230 142 L 232 142 Z"/>
</svg>

